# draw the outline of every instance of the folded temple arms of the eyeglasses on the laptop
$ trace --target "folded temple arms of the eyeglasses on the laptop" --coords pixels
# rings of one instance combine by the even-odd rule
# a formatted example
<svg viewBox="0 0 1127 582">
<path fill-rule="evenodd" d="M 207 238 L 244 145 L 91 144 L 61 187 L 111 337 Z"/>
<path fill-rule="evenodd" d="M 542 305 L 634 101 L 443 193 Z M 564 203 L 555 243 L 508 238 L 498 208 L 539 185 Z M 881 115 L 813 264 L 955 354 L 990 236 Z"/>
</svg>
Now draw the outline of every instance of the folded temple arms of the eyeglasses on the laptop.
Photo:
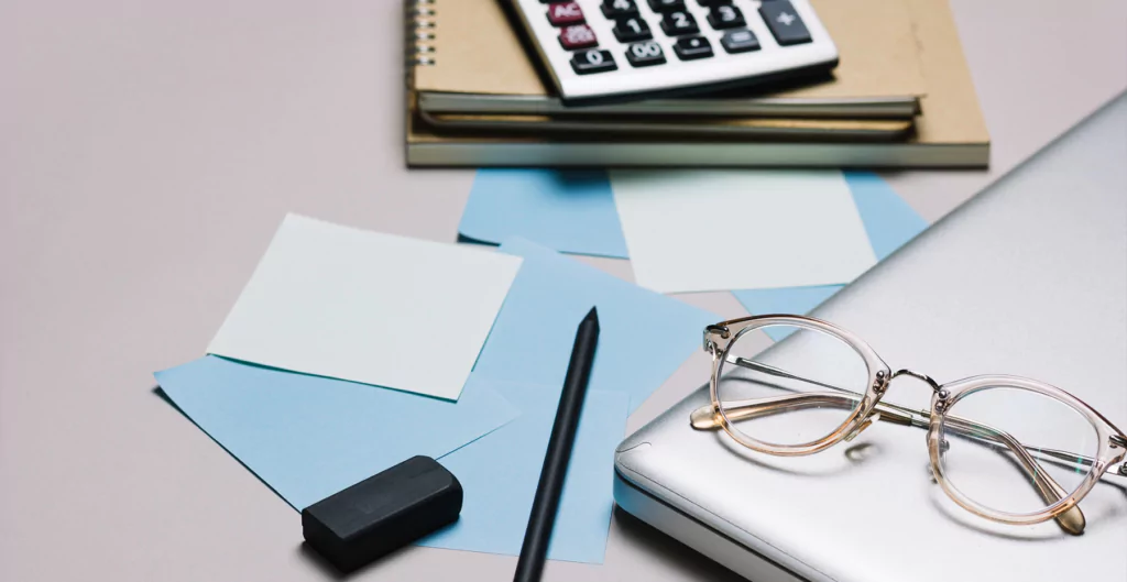
<svg viewBox="0 0 1127 582">
<path fill-rule="evenodd" d="M 825 405 L 852 409 L 855 405 L 857 401 L 861 397 L 860 394 L 857 394 L 852 391 L 833 386 L 831 384 L 817 382 L 810 378 L 796 376 L 789 371 L 777 368 L 774 366 L 760 364 L 756 361 L 748 360 L 746 358 L 733 358 L 729 359 L 728 361 L 737 366 L 755 369 L 757 371 L 770 374 L 772 376 L 796 379 L 816 386 L 831 388 L 837 393 L 837 394 L 801 393 L 801 394 L 775 396 L 769 399 L 755 399 L 751 401 L 733 403 L 736 405 L 725 406 L 725 414 L 728 417 L 729 420 L 742 420 L 747 418 L 778 414 L 791 410 L 801 410 L 801 409 L 825 406 Z M 912 411 L 911 409 L 898 406 L 896 404 L 886 404 L 884 402 L 877 403 L 877 405 L 875 406 L 875 412 L 876 414 L 870 417 L 871 420 L 867 419 L 864 421 L 866 423 L 860 427 L 861 429 L 871 423 L 872 420 L 884 420 L 886 422 L 893 422 L 896 424 L 904 424 L 904 426 L 926 427 L 925 423 L 917 424 L 915 422 L 915 414 L 920 414 L 925 418 L 931 417 L 931 414 L 926 411 L 919 411 L 919 412 Z M 712 410 L 711 404 L 693 411 L 693 413 L 690 417 L 690 420 L 694 428 L 703 430 L 719 427 L 719 421 L 720 421 L 719 414 L 715 410 Z M 1068 492 L 1066 492 L 1051 476 L 1049 476 L 1048 473 L 1045 472 L 1045 469 L 1040 466 L 1040 464 L 1037 463 L 1037 460 L 1029 454 L 1028 450 L 1026 450 L 1026 447 L 1021 445 L 1021 442 L 1019 442 L 1008 432 L 995 429 L 986 424 L 968 421 L 965 419 L 959 419 L 956 417 L 948 417 L 947 424 L 949 428 L 951 428 L 955 432 L 959 435 L 968 436 L 975 439 L 993 441 L 996 444 L 1004 445 L 1006 448 L 1009 448 L 1019 460 L 1021 468 L 1032 480 L 1037 493 L 1046 503 L 1051 505 L 1061 501 L 1065 496 L 1067 496 Z M 852 437 L 857 436 L 858 432 L 859 430 L 854 430 L 853 433 L 850 435 L 850 437 L 846 437 L 846 439 L 848 440 L 852 439 Z M 1076 457 L 1079 456 L 1072 456 L 1072 458 Z M 1070 534 L 1079 535 L 1084 531 L 1085 519 L 1083 512 L 1080 510 L 1079 507 L 1073 507 L 1067 511 L 1065 511 L 1064 513 L 1056 516 L 1056 520 L 1061 525 L 1061 528 Z"/>
</svg>

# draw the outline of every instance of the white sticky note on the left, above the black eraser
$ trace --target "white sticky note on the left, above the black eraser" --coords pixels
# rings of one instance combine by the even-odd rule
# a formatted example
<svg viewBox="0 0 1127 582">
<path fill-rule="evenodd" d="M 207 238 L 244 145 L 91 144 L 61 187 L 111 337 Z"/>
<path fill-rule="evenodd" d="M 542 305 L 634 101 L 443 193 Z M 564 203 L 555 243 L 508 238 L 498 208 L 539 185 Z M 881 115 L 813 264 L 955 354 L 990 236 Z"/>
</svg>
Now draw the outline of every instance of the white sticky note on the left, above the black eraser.
<svg viewBox="0 0 1127 582">
<path fill-rule="evenodd" d="M 291 214 L 207 352 L 456 400 L 520 268 Z"/>
</svg>

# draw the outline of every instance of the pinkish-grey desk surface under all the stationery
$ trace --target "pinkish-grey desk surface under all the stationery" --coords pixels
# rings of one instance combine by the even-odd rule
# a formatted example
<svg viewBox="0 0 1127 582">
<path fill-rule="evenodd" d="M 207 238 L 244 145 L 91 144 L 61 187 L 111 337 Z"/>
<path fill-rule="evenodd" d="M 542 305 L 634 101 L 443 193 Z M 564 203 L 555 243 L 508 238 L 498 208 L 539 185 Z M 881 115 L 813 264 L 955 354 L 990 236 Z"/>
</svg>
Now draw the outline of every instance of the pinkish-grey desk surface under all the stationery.
<svg viewBox="0 0 1127 582">
<path fill-rule="evenodd" d="M 889 174 L 930 220 L 1127 88 L 1119 0 L 952 5 L 993 165 Z M 0 7 L 0 579 L 334 577 L 298 513 L 151 373 L 202 352 L 289 211 L 454 240 L 473 174 L 403 167 L 401 21 L 393 0 Z M 683 298 L 743 313 L 728 294 Z M 686 361 L 630 429 L 706 374 Z M 409 548 L 355 580 L 496 581 L 514 564 Z M 628 579 L 731 576 L 624 516 L 604 565 L 545 575 Z"/>
</svg>

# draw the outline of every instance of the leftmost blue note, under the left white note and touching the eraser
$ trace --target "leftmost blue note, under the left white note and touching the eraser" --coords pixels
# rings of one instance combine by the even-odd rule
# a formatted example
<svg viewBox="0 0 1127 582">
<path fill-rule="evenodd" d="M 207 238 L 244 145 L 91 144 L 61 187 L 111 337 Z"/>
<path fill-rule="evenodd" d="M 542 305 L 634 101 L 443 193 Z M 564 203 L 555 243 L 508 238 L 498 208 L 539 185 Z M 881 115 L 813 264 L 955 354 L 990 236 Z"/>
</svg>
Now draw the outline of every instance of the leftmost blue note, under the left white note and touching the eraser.
<svg viewBox="0 0 1127 582">
<path fill-rule="evenodd" d="M 154 376 L 193 422 L 296 510 L 415 455 L 445 455 L 518 414 L 472 378 L 454 403 L 214 356 Z"/>
</svg>

